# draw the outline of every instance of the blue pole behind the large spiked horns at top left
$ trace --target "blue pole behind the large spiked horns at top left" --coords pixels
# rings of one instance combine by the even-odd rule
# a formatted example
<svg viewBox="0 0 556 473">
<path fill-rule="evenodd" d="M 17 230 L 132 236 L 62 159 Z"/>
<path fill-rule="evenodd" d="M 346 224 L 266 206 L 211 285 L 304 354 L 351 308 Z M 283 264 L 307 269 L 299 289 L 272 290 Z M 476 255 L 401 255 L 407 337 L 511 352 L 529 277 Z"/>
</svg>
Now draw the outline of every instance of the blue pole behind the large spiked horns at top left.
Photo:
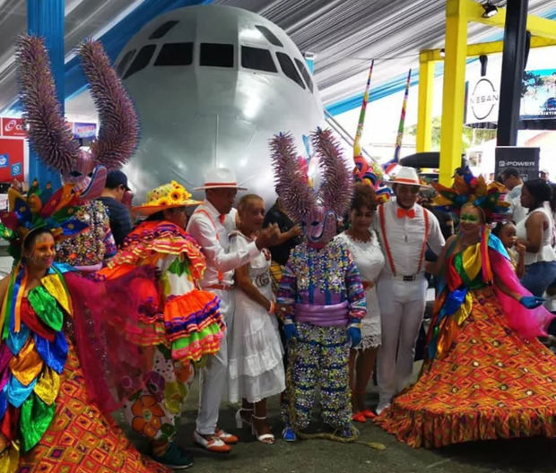
<svg viewBox="0 0 556 473">
<path fill-rule="evenodd" d="M 56 95 L 64 113 L 64 0 L 27 0 L 27 30 L 45 39 L 50 66 L 56 83 Z M 30 147 L 29 177 L 39 179 L 41 186 L 51 182 L 56 189 L 61 185 L 60 174 L 48 168 Z"/>
</svg>

